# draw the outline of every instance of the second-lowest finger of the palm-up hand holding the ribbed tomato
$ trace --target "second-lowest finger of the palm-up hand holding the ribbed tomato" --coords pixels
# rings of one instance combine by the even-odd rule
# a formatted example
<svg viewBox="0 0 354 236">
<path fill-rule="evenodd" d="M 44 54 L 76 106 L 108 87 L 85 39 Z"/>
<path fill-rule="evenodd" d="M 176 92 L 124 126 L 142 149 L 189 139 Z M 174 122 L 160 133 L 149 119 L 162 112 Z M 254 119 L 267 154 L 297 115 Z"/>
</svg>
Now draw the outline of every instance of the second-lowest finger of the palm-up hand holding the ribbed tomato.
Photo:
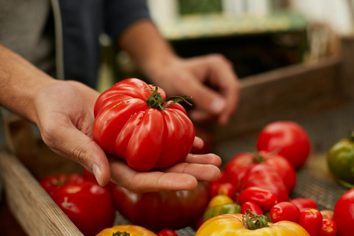
<svg viewBox="0 0 354 236">
<path fill-rule="evenodd" d="M 214 165 L 201 165 L 178 163 L 169 168 L 163 169 L 164 172 L 184 173 L 193 175 L 198 181 L 214 181 L 220 177 L 220 169 Z"/>
</svg>

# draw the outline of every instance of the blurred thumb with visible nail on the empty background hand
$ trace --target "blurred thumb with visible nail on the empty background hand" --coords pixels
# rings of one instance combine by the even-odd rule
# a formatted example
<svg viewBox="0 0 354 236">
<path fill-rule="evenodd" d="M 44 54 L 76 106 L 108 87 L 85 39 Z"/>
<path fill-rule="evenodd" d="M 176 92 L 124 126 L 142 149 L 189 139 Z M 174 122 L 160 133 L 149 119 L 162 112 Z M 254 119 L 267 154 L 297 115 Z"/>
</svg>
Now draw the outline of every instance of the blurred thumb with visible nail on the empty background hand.
<svg viewBox="0 0 354 236">
<path fill-rule="evenodd" d="M 192 96 L 192 101 L 202 110 L 213 115 L 218 115 L 224 110 L 224 97 L 202 84 L 193 75 L 181 76 L 181 84 L 183 84 L 183 92 Z"/>
</svg>

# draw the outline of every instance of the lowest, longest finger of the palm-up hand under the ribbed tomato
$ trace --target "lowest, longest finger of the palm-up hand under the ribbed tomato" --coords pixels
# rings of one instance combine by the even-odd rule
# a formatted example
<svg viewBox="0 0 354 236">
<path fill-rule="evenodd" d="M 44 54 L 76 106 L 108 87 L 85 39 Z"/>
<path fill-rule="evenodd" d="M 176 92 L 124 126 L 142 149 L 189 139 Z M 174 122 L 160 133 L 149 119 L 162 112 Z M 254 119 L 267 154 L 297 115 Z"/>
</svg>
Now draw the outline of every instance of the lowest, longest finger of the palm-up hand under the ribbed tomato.
<svg viewBox="0 0 354 236">
<path fill-rule="evenodd" d="M 192 190 L 198 184 L 190 174 L 137 172 L 117 157 L 110 160 L 112 181 L 135 192 Z"/>
</svg>

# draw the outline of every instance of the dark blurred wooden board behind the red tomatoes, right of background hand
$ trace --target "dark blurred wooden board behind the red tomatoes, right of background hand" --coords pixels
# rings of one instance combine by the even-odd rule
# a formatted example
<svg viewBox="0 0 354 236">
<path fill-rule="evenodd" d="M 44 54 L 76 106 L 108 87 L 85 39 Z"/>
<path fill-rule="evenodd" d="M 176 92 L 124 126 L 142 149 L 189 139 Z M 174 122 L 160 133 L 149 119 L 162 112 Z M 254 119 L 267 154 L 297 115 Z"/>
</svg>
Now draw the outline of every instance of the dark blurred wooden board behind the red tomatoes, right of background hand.
<svg viewBox="0 0 354 236">
<path fill-rule="evenodd" d="M 214 143 L 261 128 L 286 114 L 312 112 L 335 104 L 341 93 L 336 82 L 338 58 L 298 64 L 241 80 L 239 107 L 226 127 L 214 126 Z"/>
</svg>

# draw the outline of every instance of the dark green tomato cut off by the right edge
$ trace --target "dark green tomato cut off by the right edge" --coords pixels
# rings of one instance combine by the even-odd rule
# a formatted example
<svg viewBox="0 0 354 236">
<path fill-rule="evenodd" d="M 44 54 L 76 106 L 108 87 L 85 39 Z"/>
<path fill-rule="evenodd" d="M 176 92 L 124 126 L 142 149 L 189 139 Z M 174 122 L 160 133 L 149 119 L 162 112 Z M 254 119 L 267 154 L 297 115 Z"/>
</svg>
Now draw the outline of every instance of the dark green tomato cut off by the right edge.
<svg viewBox="0 0 354 236">
<path fill-rule="evenodd" d="M 327 154 L 327 164 L 332 175 L 339 183 L 354 184 L 354 136 L 335 143 Z M 342 180 L 342 181 L 341 181 Z M 343 183 L 345 184 L 345 183 Z"/>
</svg>

